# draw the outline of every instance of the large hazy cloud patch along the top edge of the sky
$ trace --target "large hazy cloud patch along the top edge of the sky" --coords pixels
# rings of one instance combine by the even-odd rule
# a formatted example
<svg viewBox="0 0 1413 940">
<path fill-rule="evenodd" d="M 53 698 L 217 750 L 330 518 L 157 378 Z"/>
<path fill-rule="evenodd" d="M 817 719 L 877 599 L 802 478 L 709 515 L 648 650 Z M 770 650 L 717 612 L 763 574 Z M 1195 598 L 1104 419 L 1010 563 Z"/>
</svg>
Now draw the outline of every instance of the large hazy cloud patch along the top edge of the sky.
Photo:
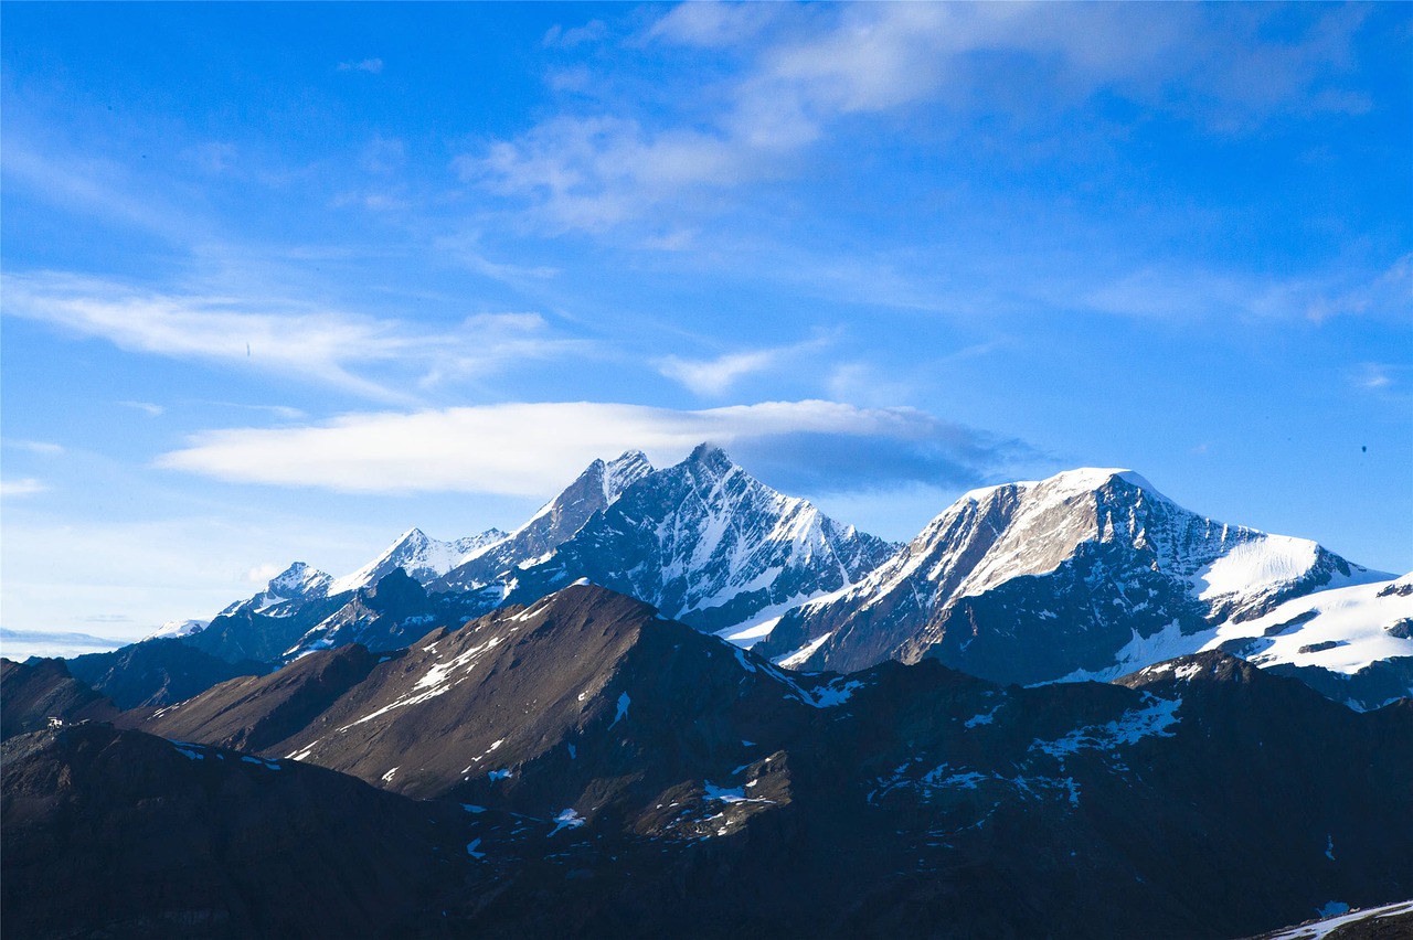
<svg viewBox="0 0 1413 940">
<path fill-rule="evenodd" d="M 1366 100 L 1340 86 L 1365 13 L 1314 11 L 1280 41 L 1266 34 L 1276 16 L 1191 6 L 681 4 L 636 45 L 646 54 L 731 45 L 743 62 L 680 96 L 690 109 L 616 102 L 610 73 L 595 113 L 571 106 L 454 167 L 528 203 L 551 230 L 602 231 L 691 205 L 682 202 L 690 192 L 788 174 L 788 158 L 835 134 L 841 119 L 906 107 L 1024 120 L 1104 90 L 1224 134 L 1276 113 L 1365 110 Z"/>
</svg>

